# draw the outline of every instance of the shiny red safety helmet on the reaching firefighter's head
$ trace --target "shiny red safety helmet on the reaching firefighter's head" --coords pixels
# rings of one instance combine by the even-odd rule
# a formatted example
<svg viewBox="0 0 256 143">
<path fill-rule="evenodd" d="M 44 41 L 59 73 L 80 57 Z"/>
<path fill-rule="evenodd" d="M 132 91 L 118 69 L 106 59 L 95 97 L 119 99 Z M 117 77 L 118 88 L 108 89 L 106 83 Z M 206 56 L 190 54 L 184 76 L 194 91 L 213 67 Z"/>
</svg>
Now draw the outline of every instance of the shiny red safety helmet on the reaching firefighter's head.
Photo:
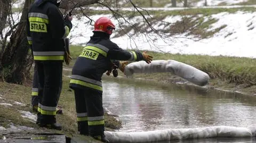
<svg viewBox="0 0 256 143">
<path fill-rule="evenodd" d="M 111 35 L 112 31 L 115 29 L 115 25 L 111 22 L 109 18 L 101 17 L 95 21 L 93 31 L 106 32 L 108 33 L 108 35 Z"/>
</svg>

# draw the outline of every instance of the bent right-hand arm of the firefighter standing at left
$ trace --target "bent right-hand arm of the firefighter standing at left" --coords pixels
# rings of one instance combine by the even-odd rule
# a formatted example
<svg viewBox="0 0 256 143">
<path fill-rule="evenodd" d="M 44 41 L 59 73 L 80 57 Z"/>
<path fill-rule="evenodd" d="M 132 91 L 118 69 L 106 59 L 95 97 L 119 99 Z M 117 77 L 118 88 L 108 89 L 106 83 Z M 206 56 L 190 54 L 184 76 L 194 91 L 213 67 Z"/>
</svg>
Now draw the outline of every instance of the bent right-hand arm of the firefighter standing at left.
<svg viewBox="0 0 256 143">
<path fill-rule="evenodd" d="M 71 21 L 68 19 L 64 21 L 61 12 L 56 6 L 52 6 L 49 9 L 48 16 L 52 38 L 61 39 L 67 37 L 72 28 Z"/>
</svg>

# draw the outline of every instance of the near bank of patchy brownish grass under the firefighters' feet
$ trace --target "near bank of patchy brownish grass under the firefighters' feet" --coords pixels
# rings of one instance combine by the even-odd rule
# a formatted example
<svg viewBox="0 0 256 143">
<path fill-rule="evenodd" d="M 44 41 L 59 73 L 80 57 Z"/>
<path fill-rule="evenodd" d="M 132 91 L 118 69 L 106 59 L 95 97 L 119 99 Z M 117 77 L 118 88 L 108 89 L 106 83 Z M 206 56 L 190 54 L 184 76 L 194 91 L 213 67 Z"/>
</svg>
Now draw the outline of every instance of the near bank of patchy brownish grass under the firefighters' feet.
<svg viewBox="0 0 256 143">
<path fill-rule="evenodd" d="M 65 73 L 64 73 L 65 74 Z M 57 115 L 57 122 L 62 124 L 62 131 L 47 130 L 51 132 L 63 133 L 67 136 L 77 136 L 77 123 L 75 111 L 74 92 L 68 87 L 69 78 L 63 77 L 63 87 L 59 100 L 59 106 L 63 110 L 63 115 Z M 25 125 L 33 127 L 38 131 L 45 132 L 45 129 L 39 128 L 35 123 L 29 121 L 27 118 L 21 117 L 22 113 L 17 111 L 29 111 L 31 109 L 31 84 L 26 86 L 15 85 L 12 83 L 0 82 L 0 103 L 7 103 L 11 105 L 0 105 L 0 126 L 9 128 L 10 123 L 15 125 Z M 20 102 L 23 106 L 15 104 Z M 105 114 L 105 127 L 108 131 L 119 129 L 121 121 L 115 120 L 114 116 Z M 0 132 L 1 135 L 1 132 Z M 83 137 L 85 140 L 94 140 L 91 137 Z"/>
</svg>

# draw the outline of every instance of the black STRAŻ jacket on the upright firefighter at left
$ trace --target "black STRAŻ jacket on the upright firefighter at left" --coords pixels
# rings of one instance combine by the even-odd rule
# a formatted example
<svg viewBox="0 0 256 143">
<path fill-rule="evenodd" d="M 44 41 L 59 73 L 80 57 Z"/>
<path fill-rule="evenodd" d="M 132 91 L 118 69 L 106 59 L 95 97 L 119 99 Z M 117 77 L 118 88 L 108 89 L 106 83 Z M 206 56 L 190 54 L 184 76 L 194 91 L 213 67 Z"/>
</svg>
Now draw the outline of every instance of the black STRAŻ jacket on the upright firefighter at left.
<svg viewBox="0 0 256 143">
<path fill-rule="evenodd" d="M 35 61 L 63 60 L 66 38 L 72 28 L 56 6 L 57 0 L 35 1 L 27 16 L 26 33 Z"/>
</svg>

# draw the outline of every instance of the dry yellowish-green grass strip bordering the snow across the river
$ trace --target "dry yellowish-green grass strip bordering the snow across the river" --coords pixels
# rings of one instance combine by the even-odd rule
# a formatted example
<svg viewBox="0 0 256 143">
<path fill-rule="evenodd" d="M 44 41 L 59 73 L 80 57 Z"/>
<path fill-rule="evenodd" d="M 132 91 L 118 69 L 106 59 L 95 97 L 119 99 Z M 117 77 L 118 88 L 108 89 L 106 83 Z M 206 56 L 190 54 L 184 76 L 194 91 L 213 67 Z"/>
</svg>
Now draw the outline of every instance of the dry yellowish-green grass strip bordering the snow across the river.
<svg viewBox="0 0 256 143">
<path fill-rule="evenodd" d="M 154 60 L 177 60 L 195 66 L 210 75 L 230 83 L 256 85 L 256 59 L 246 57 L 180 55 L 149 52 Z M 78 55 L 74 53 L 73 55 Z M 75 61 L 74 61 L 75 62 Z M 162 74 L 161 74 L 162 75 Z M 157 76 L 157 75 L 156 75 Z"/>
</svg>

